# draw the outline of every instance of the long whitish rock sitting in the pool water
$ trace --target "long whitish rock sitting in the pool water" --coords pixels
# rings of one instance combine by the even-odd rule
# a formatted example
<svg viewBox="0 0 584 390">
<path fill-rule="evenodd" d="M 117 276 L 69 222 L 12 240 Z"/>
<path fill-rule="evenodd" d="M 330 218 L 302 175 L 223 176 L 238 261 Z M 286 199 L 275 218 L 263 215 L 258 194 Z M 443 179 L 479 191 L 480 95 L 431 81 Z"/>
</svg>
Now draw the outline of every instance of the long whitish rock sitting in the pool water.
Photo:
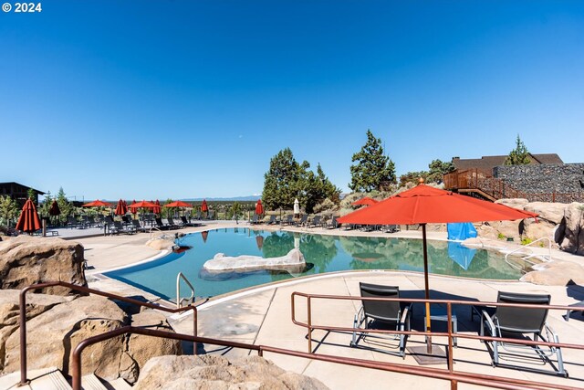
<svg viewBox="0 0 584 390">
<path fill-rule="evenodd" d="M 244 269 L 298 269 L 305 266 L 304 255 L 299 249 L 295 248 L 281 258 L 262 258 L 250 255 L 229 257 L 225 256 L 224 253 L 217 253 L 213 259 L 205 261 L 203 269 L 221 272 Z"/>
</svg>

